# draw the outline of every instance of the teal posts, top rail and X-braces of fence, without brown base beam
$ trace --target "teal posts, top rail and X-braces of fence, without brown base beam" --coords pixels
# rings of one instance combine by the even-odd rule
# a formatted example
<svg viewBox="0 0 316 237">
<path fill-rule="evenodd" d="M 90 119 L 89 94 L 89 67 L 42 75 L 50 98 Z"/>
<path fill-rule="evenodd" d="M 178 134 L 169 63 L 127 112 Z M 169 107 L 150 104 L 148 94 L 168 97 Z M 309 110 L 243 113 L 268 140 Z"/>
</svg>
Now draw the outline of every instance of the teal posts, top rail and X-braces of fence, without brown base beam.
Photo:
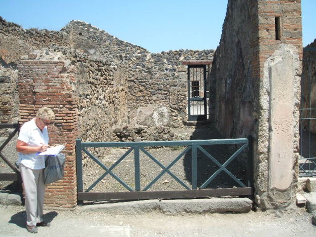
<svg viewBox="0 0 316 237">
<path fill-rule="evenodd" d="M 223 164 L 218 162 L 212 155 L 210 155 L 202 146 L 205 145 L 227 145 L 227 144 L 241 144 L 241 147 L 234 152 L 234 154 Z M 212 140 L 189 140 L 189 141 L 156 141 L 156 142 L 82 142 L 81 139 L 76 140 L 76 165 L 77 165 L 77 191 L 78 193 L 87 193 L 95 185 L 97 185 L 106 175 L 111 175 L 121 185 L 123 185 L 130 192 L 147 191 L 163 174 L 168 173 L 173 179 L 175 179 L 180 185 L 186 190 L 201 190 L 204 189 L 220 172 L 227 173 L 232 179 L 240 185 L 240 187 L 251 187 L 252 186 L 252 139 L 239 138 L 239 139 L 212 139 Z M 172 147 L 172 146 L 183 146 L 186 147 L 180 155 L 178 155 L 169 165 L 164 166 L 160 161 L 155 159 L 145 147 Z M 100 148 L 100 147 L 127 147 L 130 148 L 124 155 L 122 155 L 111 167 L 106 167 L 97 157 L 91 154 L 87 148 Z M 226 168 L 231 161 L 233 161 L 238 155 L 248 148 L 248 180 L 247 183 L 242 183 L 237 179 L 228 169 Z M 191 187 L 187 186 L 182 180 L 180 180 L 175 174 L 170 171 L 170 168 L 188 151 L 191 150 Z M 197 152 L 201 151 L 217 166 L 218 170 L 213 173 L 201 186 L 197 186 Z M 124 158 L 134 151 L 134 169 L 135 169 L 135 189 L 126 184 L 120 179 L 112 170 L 124 160 Z M 82 152 L 87 154 L 93 161 L 95 161 L 100 167 L 105 170 L 103 173 L 88 189 L 83 190 L 82 180 Z M 140 185 L 140 152 L 147 155 L 152 161 L 162 168 L 162 171 L 145 187 L 141 188 Z M 79 200 L 79 199 L 78 199 Z"/>
</svg>

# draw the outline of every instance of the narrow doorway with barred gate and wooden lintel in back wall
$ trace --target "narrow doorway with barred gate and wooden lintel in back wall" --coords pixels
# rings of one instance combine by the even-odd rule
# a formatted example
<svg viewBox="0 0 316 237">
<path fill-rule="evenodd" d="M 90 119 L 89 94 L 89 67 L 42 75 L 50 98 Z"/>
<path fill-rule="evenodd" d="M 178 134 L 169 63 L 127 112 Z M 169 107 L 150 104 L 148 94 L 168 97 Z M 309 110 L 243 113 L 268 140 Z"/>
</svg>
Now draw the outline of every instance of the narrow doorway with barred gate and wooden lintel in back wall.
<svg viewBox="0 0 316 237">
<path fill-rule="evenodd" d="M 206 77 L 206 66 L 211 63 L 210 60 L 182 61 L 182 64 L 187 65 L 189 121 L 203 121 L 209 118 L 209 83 Z"/>
</svg>

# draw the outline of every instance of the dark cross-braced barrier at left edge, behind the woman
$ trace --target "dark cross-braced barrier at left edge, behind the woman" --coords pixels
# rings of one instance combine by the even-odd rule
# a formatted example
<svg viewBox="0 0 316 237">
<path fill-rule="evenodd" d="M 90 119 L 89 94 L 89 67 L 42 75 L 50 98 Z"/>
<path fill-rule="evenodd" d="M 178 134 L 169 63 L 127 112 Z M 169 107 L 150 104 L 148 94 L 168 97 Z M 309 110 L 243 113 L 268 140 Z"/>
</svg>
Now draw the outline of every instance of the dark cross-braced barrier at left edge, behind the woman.
<svg viewBox="0 0 316 237">
<path fill-rule="evenodd" d="M 2 154 L 3 148 L 9 143 L 9 141 L 19 131 L 19 124 L 0 124 L 0 129 L 14 128 L 15 130 L 9 135 L 0 147 L 0 157 L 2 160 L 15 172 L 15 173 L 0 173 L 0 180 L 20 180 L 20 171 Z"/>
</svg>

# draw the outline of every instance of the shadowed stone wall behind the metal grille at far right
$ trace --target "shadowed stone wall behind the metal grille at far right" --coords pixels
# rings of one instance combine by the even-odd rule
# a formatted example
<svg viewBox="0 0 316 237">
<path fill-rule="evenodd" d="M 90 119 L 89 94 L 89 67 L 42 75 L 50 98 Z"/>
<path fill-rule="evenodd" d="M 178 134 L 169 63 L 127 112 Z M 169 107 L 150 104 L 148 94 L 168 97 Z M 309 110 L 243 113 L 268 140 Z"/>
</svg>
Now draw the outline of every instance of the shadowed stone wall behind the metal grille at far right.
<svg viewBox="0 0 316 237">
<path fill-rule="evenodd" d="M 306 46 L 316 48 L 316 40 Z M 316 108 L 316 52 L 303 51 L 303 69 L 302 69 L 302 108 Z M 315 110 L 301 111 L 302 118 L 316 118 Z M 316 134 L 316 121 L 302 120 L 301 126 L 303 131 L 310 131 Z"/>
</svg>

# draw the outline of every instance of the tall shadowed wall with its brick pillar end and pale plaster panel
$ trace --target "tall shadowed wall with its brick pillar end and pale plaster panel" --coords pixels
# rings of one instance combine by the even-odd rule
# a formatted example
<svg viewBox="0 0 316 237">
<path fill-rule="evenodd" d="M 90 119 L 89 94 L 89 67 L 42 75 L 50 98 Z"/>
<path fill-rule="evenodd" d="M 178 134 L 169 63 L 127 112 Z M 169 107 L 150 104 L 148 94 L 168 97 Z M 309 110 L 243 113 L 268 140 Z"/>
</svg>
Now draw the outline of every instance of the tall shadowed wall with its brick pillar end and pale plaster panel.
<svg viewBox="0 0 316 237">
<path fill-rule="evenodd" d="M 225 137 L 255 138 L 255 201 L 262 209 L 285 207 L 295 195 L 301 35 L 301 1 L 228 1 L 213 65 L 216 122 Z"/>
</svg>

